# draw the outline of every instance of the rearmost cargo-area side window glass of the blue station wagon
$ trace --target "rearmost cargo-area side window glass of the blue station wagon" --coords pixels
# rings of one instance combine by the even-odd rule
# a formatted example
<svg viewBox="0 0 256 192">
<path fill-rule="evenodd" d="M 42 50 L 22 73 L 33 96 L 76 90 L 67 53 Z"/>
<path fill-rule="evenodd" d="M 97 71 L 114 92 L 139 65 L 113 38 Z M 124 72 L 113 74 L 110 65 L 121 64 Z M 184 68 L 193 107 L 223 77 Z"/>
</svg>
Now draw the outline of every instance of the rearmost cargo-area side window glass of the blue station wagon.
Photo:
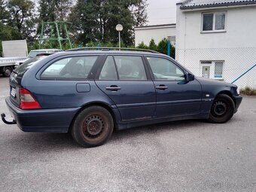
<svg viewBox="0 0 256 192">
<path fill-rule="evenodd" d="M 53 62 L 41 78 L 87 78 L 98 56 L 74 56 Z"/>
</svg>

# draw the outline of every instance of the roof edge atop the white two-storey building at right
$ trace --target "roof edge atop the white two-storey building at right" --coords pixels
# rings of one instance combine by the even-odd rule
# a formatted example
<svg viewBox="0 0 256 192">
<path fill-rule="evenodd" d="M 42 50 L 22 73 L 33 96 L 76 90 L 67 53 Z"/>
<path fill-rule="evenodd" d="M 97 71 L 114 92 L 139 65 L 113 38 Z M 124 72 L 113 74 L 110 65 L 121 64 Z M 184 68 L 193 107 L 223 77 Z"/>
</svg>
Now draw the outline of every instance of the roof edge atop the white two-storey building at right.
<svg viewBox="0 0 256 192">
<path fill-rule="evenodd" d="M 212 8 L 253 4 L 256 4 L 256 0 L 186 0 L 177 3 L 177 5 L 181 5 L 181 9 Z"/>
</svg>

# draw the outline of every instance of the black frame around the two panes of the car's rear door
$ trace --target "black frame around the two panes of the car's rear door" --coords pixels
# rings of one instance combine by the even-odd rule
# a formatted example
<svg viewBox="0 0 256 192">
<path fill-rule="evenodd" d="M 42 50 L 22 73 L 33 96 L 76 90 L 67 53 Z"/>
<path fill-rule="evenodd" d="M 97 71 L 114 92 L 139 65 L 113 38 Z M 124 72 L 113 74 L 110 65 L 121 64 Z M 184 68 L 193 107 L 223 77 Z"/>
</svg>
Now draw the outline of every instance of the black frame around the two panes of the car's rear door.
<svg viewBox="0 0 256 192">
<path fill-rule="evenodd" d="M 115 67 L 116 72 L 117 72 L 117 80 L 103 80 L 103 79 L 99 79 L 99 75 L 100 75 L 100 73 L 102 72 L 103 66 L 104 66 L 105 61 L 106 61 L 106 59 L 108 58 L 108 56 L 112 56 L 112 58 L 114 59 L 114 67 Z M 117 70 L 117 64 L 116 64 L 116 60 L 115 60 L 114 56 L 137 56 L 137 57 L 141 57 L 141 58 L 142 58 L 142 63 L 143 63 L 144 69 L 145 69 L 145 74 L 146 74 L 146 78 L 147 78 L 147 79 L 145 79 L 145 80 L 133 80 L 133 79 L 130 79 L 130 80 L 121 80 L 120 77 L 119 77 L 119 72 L 118 72 L 118 70 Z M 95 75 L 95 78 L 94 78 L 96 81 L 151 81 L 151 75 L 150 75 L 150 72 L 149 72 L 149 70 L 148 70 L 148 66 L 147 66 L 147 64 L 146 64 L 146 62 L 145 62 L 144 56 L 141 55 L 141 54 L 138 54 L 138 55 L 136 55 L 136 54 L 118 54 L 118 53 L 106 54 L 106 55 L 105 55 L 105 58 L 102 59 L 101 62 L 102 62 L 102 63 L 101 63 L 101 66 L 99 66 L 99 69 L 97 70 L 96 75 Z"/>
</svg>

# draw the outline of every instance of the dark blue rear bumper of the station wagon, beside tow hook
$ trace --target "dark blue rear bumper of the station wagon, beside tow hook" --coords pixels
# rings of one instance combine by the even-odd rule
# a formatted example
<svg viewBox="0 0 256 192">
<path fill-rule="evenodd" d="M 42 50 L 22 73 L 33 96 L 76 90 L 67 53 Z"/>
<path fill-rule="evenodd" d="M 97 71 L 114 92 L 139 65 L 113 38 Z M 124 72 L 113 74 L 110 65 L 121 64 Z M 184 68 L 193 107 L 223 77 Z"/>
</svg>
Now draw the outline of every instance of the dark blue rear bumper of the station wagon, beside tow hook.
<svg viewBox="0 0 256 192">
<path fill-rule="evenodd" d="M 80 108 L 54 108 L 22 110 L 14 105 L 10 98 L 5 102 L 17 122 L 20 130 L 24 132 L 67 133 L 73 117 Z"/>
</svg>

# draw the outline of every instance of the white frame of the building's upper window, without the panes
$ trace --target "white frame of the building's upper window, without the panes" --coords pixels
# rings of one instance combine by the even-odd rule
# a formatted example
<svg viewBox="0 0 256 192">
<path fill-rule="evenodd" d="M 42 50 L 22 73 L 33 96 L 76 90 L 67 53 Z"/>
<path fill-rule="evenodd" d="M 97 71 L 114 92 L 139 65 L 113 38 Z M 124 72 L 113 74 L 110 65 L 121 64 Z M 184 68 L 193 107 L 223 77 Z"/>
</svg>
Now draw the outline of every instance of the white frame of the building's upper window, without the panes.
<svg viewBox="0 0 256 192">
<path fill-rule="evenodd" d="M 203 30 L 203 16 L 205 14 L 213 14 L 212 30 Z M 216 14 L 224 14 L 224 29 L 215 29 Z M 227 11 L 216 11 L 216 12 L 204 12 L 201 14 L 201 33 L 212 33 L 212 32 L 227 32 Z"/>
</svg>

